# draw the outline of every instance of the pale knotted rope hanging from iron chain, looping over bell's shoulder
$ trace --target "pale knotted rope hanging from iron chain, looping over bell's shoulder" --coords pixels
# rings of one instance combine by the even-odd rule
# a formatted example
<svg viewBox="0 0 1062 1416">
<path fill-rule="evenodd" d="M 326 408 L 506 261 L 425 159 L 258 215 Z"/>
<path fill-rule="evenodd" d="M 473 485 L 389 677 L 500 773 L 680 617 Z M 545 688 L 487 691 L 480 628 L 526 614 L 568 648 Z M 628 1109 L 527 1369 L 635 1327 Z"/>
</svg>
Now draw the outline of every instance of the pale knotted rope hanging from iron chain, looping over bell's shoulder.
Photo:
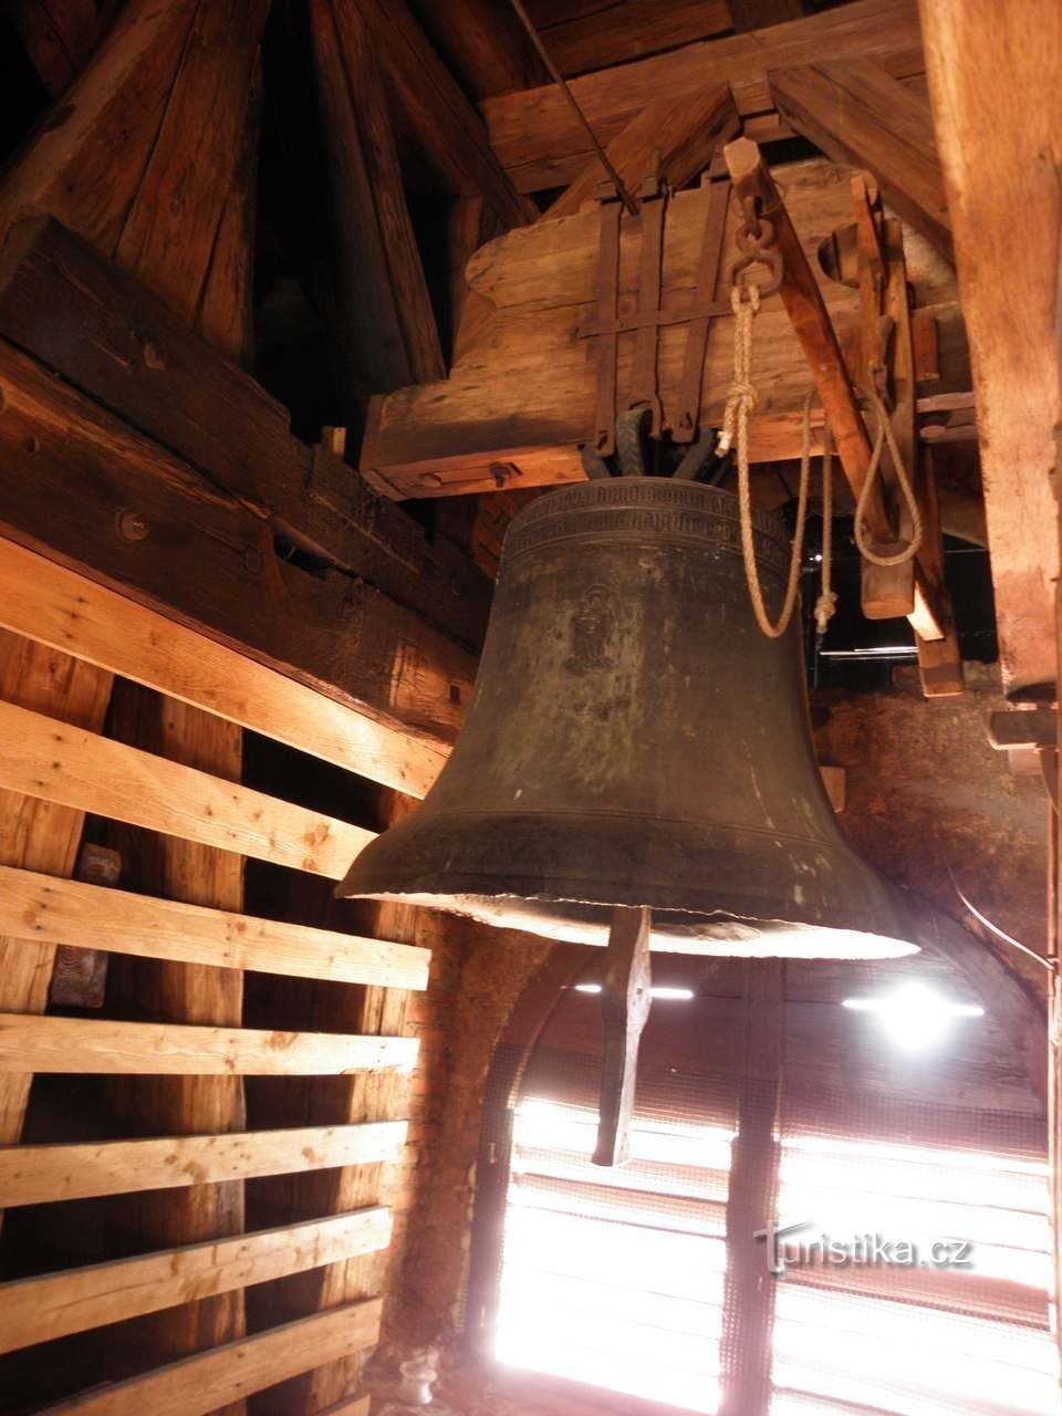
<svg viewBox="0 0 1062 1416">
<path fill-rule="evenodd" d="M 731 309 L 733 310 L 733 382 L 726 395 L 726 411 L 722 419 L 722 433 L 719 435 L 721 453 L 736 446 L 738 452 L 738 506 L 741 508 L 741 549 L 745 558 L 745 578 L 749 582 L 749 596 L 756 623 L 767 639 L 782 639 L 793 619 L 793 610 L 800 589 L 800 561 L 804 551 L 804 521 L 807 520 L 807 484 L 810 481 L 810 419 L 811 395 L 804 404 L 804 419 L 809 425 L 807 456 L 800 462 L 800 490 L 797 493 L 797 521 L 793 532 L 793 552 L 789 561 L 789 581 L 786 582 L 786 599 L 782 613 L 775 623 L 770 623 L 767 607 L 763 602 L 763 586 L 759 581 L 759 566 L 756 565 L 756 545 L 752 534 L 752 479 L 749 477 L 749 413 L 756 406 L 758 395 L 752 384 L 752 321 L 759 310 L 759 289 L 755 285 L 735 285 L 731 290 Z"/>
</svg>

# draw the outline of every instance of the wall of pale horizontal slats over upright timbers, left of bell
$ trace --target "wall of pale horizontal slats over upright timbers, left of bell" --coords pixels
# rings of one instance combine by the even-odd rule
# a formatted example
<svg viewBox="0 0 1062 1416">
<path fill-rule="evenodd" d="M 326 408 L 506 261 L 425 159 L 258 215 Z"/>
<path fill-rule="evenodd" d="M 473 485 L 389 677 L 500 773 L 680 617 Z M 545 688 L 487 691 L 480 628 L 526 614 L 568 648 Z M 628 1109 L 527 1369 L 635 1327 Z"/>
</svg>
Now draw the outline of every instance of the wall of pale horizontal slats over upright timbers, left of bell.
<svg viewBox="0 0 1062 1416">
<path fill-rule="evenodd" d="M 18 568 L 41 571 L 41 564 L 0 542 L 0 581 L 16 590 Z M 123 596 L 55 566 L 34 583 L 40 599 L 16 593 L 0 615 L 23 633 L 33 632 L 35 615 L 41 624 L 42 644 L 0 629 L 21 666 L 14 677 L 21 681 L 27 664 L 47 664 L 86 708 L 65 721 L 54 684 L 50 695 L 31 694 L 24 704 L 10 701 L 13 694 L 0 700 L 0 790 L 14 803 L 7 820 L 25 811 L 52 820 L 61 845 L 51 855 L 0 854 L 3 957 L 14 976 L 41 976 L 35 1005 L 0 986 L 0 1096 L 14 1089 L 24 1097 L 30 1073 L 42 1082 L 96 1076 L 103 1124 L 143 1138 L 110 1130 L 113 1138 L 82 1141 L 75 1131 L 64 1140 L 52 1127 L 50 1138 L 59 1143 L 0 1147 L 0 1206 L 10 1211 L 16 1239 L 20 1214 L 30 1214 L 23 1206 L 136 1198 L 125 1211 L 135 1216 L 136 1238 L 125 1240 L 135 1242 L 133 1256 L 85 1263 L 91 1250 L 74 1246 L 52 1272 L 0 1283 L 0 1354 L 8 1362 L 35 1344 L 74 1340 L 122 1352 L 126 1342 L 116 1366 L 110 1355 L 82 1357 L 71 1371 L 88 1378 L 48 1372 L 38 1400 L 54 1402 L 72 1382 L 76 1389 L 110 1372 L 118 1378 L 101 1393 L 62 1395 L 48 1408 L 54 1412 L 238 1416 L 252 1399 L 265 1400 L 262 1410 L 279 1409 L 272 1391 L 253 1393 L 293 1383 L 304 1399 L 292 1410 L 358 1412 L 357 1378 L 375 1341 L 378 1304 L 351 1300 L 379 1291 L 377 1256 L 392 1232 L 379 1204 L 382 1167 L 396 1160 L 406 1134 L 418 1051 L 406 1000 L 426 987 L 430 954 L 418 943 L 416 910 L 382 908 L 367 933 L 244 912 L 245 855 L 285 865 L 285 875 L 323 878 L 327 889 L 374 833 L 241 786 L 241 725 L 333 765 L 372 772 L 379 760 L 387 779 L 394 756 L 378 759 L 371 739 L 362 750 L 364 719 L 355 712 Z M 54 647 L 59 643 L 93 663 L 71 658 Z M 103 732 L 112 668 L 140 683 L 116 681 Z M 180 697 L 161 697 L 160 688 Z M 295 711 L 286 714 L 289 704 Z M 421 790 L 429 776 L 425 769 Z M 86 813 L 98 823 L 96 838 L 105 828 L 120 848 L 126 888 L 67 878 Z M 50 970 L 41 960 L 50 964 L 59 944 L 108 952 L 105 1015 L 45 1014 Z M 265 974 L 278 1000 L 293 981 L 316 980 L 321 1003 L 297 1029 L 248 1027 L 244 970 Z M 350 986 L 358 986 L 354 1007 Z M 310 1099 L 331 1076 L 329 1085 L 344 1089 L 343 1116 L 285 1126 L 278 1113 L 265 1121 L 270 1129 L 248 1130 L 248 1076 L 309 1078 Z M 4 1137 L 11 1143 L 21 1110 L 16 1121 Z M 324 1204 L 289 1214 L 282 1206 L 283 1222 L 253 1222 L 246 1233 L 248 1180 Z M 95 1223 L 89 1215 L 88 1228 Z M 62 1225 L 57 1232 L 65 1233 Z M 303 1280 L 312 1280 L 312 1303 L 269 1300 Z M 251 1284 L 269 1311 L 265 1321 L 256 1314 L 248 1337 Z M 105 1324 L 106 1342 L 95 1335 Z"/>
</svg>

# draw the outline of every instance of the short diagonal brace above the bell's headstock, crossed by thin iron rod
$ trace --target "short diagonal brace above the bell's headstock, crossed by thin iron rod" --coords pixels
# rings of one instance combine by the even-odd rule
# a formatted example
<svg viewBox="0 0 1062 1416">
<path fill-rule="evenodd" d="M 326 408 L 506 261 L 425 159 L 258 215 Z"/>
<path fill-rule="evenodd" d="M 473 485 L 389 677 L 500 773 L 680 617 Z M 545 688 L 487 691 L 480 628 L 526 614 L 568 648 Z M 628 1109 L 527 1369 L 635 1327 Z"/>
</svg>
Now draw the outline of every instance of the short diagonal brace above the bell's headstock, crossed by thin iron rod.
<svg viewBox="0 0 1062 1416">
<path fill-rule="evenodd" d="M 731 91 L 718 84 L 692 98 L 658 98 L 613 137 L 607 154 L 630 190 L 637 190 L 644 174 L 657 163 L 668 187 L 678 190 L 708 167 L 716 147 L 733 137 L 739 127 Z M 592 157 L 582 176 L 556 198 L 542 219 L 573 215 L 583 202 L 593 200 L 600 181 L 600 163 Z"/>
</svg>

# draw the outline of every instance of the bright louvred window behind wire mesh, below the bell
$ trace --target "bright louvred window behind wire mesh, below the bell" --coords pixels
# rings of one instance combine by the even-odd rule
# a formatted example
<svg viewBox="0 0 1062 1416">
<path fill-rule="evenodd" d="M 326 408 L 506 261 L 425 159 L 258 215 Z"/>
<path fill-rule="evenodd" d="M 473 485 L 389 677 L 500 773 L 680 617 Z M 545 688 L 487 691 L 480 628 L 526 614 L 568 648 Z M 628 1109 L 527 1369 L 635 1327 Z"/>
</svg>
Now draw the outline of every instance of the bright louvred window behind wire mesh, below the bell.
<svg viewBox="0 0 1062 1416">
<path fill-rule="evenodd" d="M 1046 1123 L 990 1022 L 912 1059 L 850 1045 L 835 998 L 787 1004 L 772 1116 L 741 998 L 692 981 L 654 1003 L 620 1168 L 590 1160 L 599 1000 L 554 1011 L 508 1113 L 494 1355 L 617 1410 L 1062 1416 Z"/>
</svg>

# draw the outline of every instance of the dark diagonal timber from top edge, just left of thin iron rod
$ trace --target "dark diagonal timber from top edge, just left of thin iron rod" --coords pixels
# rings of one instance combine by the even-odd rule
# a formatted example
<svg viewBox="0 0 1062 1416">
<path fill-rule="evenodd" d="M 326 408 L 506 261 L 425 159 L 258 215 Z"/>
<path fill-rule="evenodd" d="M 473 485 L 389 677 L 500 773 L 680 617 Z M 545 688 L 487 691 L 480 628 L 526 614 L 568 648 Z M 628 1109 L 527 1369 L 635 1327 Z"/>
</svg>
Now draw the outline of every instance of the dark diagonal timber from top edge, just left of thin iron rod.
<svg viewBox="0 0 1062 1416">
<path fill-rule="evenodd" d="M 537 215 L 501 170 L 483 119 L 405 0 L 355 0 L 428 160 L 457 197 L 483 197 L 508 229 Z"/>
</svg>

